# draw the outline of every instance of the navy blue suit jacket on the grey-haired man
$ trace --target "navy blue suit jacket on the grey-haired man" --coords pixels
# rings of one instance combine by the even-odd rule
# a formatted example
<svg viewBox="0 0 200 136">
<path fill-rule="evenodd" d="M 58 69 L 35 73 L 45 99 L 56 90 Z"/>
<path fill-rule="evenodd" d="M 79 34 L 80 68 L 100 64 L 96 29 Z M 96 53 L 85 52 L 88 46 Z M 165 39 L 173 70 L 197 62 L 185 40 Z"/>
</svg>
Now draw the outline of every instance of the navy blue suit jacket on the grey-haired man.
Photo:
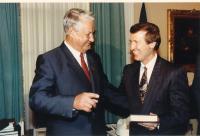
<svg viewBox="0 0 200 136">
<path fill-rule="evenodd" d="M 48 135 L 105 134 L 104 104 L 101 94 L 109 88 L 99 56 L 87 52 L 91 82 L 64 43 L 39 55 L 30 89 L 30 107 L 47 118 Z M 73 111 L 77 94 L 92 91 L 100 94 L 91 113 Z"/>
</svg>

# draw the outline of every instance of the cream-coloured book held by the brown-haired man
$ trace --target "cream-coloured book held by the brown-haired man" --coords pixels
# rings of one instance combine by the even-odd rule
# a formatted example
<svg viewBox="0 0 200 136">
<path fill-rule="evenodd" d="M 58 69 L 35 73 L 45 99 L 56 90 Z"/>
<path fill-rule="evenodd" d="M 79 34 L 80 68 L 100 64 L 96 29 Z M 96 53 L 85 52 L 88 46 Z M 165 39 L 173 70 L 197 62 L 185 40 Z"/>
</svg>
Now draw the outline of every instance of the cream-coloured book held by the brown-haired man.
<svg viewBox="0 0 200 136">
<path fill-rule="evenodd" d="M 158 122 L 157 115 L 130 115 L 129 122 Z"/>
</svg>

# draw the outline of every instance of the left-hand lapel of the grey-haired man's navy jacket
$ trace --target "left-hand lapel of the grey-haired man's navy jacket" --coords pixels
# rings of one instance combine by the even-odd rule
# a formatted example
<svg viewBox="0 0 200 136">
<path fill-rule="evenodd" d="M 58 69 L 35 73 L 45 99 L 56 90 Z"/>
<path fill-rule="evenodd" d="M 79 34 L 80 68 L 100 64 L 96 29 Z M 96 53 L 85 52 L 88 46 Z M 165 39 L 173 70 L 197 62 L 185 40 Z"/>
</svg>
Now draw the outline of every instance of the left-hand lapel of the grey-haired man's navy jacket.
<svg viewBox="0 0 200 136">
<path fill-rule="evenodd" d="M 65 53 L 66 56 L 66 63 L 69 68 L 73 69 L 76 73 L 78 73 L 78 77 L 81 79 L 82 82 L 90 83 L 90 81 L 87 79 L 83 69 L 77 62 L 77 60 L 74 58 L 73 54 L 70 52 L 70 50 L 67 48 L 67 46 L 64 44 L 64 42 L 60 46 L 61 50 Z"/>
</svg>

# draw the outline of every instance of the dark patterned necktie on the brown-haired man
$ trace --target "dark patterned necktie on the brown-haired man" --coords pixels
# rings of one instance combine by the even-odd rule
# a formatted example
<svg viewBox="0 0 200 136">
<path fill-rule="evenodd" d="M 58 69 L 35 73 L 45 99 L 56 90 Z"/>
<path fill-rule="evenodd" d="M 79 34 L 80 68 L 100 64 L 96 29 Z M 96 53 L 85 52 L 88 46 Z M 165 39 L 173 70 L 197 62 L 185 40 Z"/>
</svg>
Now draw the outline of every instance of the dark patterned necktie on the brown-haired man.
<svg viewBox="0 0 200 136">
<path fill-rule="evenodd" d="M 140 100 L 141 100 L 142 104 L 144 103 L 144 98 L 145 98 L 145 95 L 147 93 L 147 89 L 148 89 L 147 87 L 148 87 L 147 68 L 144 67 L 144 73 L 142 75 L 142 78 L 141 78 L 140 84 L 139 84 Z"/>
</svg>

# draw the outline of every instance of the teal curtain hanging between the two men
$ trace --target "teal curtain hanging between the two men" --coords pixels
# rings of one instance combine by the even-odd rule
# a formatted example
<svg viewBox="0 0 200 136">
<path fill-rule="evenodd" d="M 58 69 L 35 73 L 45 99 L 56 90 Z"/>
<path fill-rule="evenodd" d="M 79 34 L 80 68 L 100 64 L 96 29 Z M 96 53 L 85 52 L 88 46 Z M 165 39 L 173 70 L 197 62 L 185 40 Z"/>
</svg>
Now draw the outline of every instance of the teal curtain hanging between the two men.
<svg viewBox="0 0 200 136">
<path fill-rule="evenodd" d="M 95 51 L 100 55 L 109 81 L 118 86 L 125 65 L 125 24 L 123 3 L 92 3 L 96 19 Z M 116 123 L 118 117 L 106 112 L 106 122 Z"/>
</svg>

